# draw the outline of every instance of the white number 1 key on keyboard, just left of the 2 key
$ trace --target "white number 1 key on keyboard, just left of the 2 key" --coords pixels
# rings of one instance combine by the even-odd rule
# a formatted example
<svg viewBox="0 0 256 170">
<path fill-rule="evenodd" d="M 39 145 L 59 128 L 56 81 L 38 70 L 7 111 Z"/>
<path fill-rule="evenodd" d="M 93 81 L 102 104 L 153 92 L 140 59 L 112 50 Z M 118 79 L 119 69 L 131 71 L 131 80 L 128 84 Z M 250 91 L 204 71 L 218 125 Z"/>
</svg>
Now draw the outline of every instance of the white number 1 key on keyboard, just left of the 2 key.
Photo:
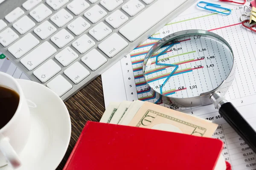
<svg viewBox="0 0 256 170">
<path fill-rule="evenodd" d="M 27 31 L 35 26 L 35 23 L 28 16 L 25 15 L 24 17 L 17 20 L 12 26 L 20 34 L 25 34 Z"/>
</svg>

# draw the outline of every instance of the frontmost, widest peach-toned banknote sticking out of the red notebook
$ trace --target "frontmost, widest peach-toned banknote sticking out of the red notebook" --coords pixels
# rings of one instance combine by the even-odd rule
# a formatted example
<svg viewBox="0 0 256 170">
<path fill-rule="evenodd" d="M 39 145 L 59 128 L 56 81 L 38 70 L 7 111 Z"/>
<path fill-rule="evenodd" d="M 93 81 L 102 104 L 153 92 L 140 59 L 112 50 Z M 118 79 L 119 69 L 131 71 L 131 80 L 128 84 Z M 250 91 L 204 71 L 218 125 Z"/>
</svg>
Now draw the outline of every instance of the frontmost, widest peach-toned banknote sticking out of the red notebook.
<svg viewBox="0 0 256 170">
<path fill-rule="evenodd" d="M 128 125 L 204 137 L 211 137 L 218 127 L 204 119 L 149 102 L 142 105 Z"/>
</svg>

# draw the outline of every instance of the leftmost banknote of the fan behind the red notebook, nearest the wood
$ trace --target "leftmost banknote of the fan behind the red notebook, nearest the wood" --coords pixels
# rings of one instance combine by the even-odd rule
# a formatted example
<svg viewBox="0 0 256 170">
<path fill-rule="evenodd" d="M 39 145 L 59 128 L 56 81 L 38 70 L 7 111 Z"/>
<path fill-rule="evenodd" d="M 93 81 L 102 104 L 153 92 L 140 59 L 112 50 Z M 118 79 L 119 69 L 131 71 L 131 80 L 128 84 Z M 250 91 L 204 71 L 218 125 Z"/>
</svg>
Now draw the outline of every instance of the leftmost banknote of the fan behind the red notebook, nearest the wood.
<svg viewBox="0 0 256 170">
<path fill-rule="evenodd" d="M 99 122 L 110 123 L 120 104 L 121 102 L 111 102 Z"/>
</svg>

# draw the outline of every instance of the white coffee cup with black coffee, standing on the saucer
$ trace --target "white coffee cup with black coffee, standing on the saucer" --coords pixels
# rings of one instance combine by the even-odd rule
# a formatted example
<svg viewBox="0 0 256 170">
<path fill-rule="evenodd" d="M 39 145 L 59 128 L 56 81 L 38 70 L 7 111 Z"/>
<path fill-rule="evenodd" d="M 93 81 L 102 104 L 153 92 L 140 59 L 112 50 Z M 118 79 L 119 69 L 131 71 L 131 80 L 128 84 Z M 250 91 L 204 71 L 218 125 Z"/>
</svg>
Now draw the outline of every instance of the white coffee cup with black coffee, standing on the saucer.
<svg viewBox="0 0 256 170">
<path fill-rule="evenodd" d="M 18 82 L 0 72 L 0 86 L 11 88 L 20 96 L 18 108 L 12 119 L 0 129 L 0 167 L 9 164 L 14 169 L 21 165 L 19 154 L 25 147 L 30 132 L 29 107 Z M 5 114 L 1 112 L 1 115 Z"/>
</svg>

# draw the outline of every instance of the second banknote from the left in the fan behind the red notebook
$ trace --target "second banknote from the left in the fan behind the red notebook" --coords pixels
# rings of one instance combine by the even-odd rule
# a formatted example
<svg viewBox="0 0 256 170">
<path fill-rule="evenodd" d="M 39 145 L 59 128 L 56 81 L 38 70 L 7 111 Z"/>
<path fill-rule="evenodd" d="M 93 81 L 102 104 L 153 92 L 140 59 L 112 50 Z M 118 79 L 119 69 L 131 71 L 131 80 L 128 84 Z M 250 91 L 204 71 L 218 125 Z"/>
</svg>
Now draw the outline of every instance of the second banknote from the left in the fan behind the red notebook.
<svg viewBox="0 0 256 170">
<path fill-rule="evenodd" d="M 113 115 L 111 121 L 109 123 L 111 124 L 119 124 L 120 120 L 122 119 L 122 117 L 125 115 L 125 113 L 127 112 L 129 106 L 132 104 L 132 102 L 128 102 L 128 101 L 123 101 L 119 107 L 118 110 L 116 111 L 116 113 Z"/>
</svg>

